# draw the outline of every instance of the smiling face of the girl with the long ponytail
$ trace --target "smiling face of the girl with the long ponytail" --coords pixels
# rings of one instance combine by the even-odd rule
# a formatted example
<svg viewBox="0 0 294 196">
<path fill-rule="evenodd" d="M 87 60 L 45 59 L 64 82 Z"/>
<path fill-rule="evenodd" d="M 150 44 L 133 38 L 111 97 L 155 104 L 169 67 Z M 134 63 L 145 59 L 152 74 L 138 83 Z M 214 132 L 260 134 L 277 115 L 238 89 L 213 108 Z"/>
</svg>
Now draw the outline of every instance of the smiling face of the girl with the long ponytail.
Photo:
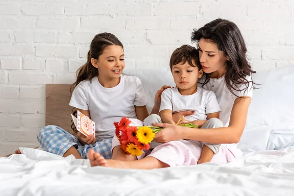
<svg viewBox="0 0 294 196">
<path fill-rule="evenodd" d="M 100 76 L 108 79 L 120 78 L 124 64 L 124 53 L 121 46 L 111 45 L 106 47 L 99 59 L 91 59 L 92 65 L 98 68 Z"/>
</svg>

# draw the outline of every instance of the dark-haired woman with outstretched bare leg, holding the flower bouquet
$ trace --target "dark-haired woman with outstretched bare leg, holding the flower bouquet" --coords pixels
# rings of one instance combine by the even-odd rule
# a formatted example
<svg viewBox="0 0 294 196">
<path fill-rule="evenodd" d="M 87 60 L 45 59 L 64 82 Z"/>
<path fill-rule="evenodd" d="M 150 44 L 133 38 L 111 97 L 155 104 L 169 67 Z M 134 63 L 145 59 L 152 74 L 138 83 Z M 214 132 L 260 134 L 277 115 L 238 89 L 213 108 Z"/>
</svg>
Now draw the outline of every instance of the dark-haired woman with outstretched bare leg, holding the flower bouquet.
<svg viewBox="0 0 294 196">
<path fill-rule="evenodd" d="M 246 46 L 242 34 L 234 23 L 217 19 L 195 30 L 192 41 L 197 42 L 200 63 L 204 73 L 200 79 L 202 87 L 213 91 L 221 107 L 220 119 L 224 127 L 192 129 L 173 124 L 157 123 L 155 126 L 164 127 L 155 136 L 155 141 L 162 144 L 156 148 L 172 148 L 174 152 L 181 148 L 181 156 L 166 156 L 161 159 L 152 156 L 137 161 L 106 160 L 99 153 L 89 151 L 88 157 L 91 166 L 104 166 L 115 168 L 155 169 L 170 167 L 169 163 L 177 165 L 194 165 L 199 160 L 202 145 L 192 151 L 182 145 L 181 139 L 195 140 L 212 144 L 222 144 L 218 154 L 211 162 L 226 163 L 231 159 L 242 156 L 242 151 L 237 148 L 244 131 L 247 111 L 252 98 L 253 82 L 251 79 L 251 66 L 246 58 Z M 191 111 L 178 112 L 173 119 L 191 114 Z M 207 121 L 200 121 L 203 125 Z M 195 153 L 198 151 L 198 153 Z M 186 158 L 189 154 L 190 158 Z M 171 160 L 172 159 L 172 160 Z"/>
</svg>

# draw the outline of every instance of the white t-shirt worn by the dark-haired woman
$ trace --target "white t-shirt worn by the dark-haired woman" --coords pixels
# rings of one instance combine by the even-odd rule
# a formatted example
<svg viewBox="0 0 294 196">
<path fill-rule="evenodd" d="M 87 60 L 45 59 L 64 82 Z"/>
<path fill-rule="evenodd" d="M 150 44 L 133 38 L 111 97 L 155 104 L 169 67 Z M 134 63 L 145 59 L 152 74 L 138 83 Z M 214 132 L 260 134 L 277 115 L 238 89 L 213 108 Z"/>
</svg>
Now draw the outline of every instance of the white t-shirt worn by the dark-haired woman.
<svg viewBox="0 0 294 196">
<path fill-rule="evenodd" d="M 203 82 L 203 77 L 200 78 L 200 82 Z M 236 95 L 239 97 L 241 96 L 248 96 L 252 98 L 253 94 L 253 88 L 252 88 L 252 79 L 250 76 L 246 76 L 246 80 L 249 81 L 249 87 L 247 90 L 246 85 L 243 84 L 239 86 L 240 91 L 234 91 Z M 197 84 L 198 87 L 202 87 L 202 84 Z M 228 126 L 230 122 L 230 116 L 231 116 L 231 111 L 233 108 L 233 104 L 235 99 L 237 98 L 234 96 L 229 89 L 227 88 L 225 81 L 224 81 L 224 75 L 218 79 L 216 78 L 210 78 L 209 82 L 203 86 L 204 89 L 213 91 L 216 96 L 217 100 L 221 106 L 221 112 L 220 112 L 220 120 L 224 124 L 224 126 Z"/>
</svg>

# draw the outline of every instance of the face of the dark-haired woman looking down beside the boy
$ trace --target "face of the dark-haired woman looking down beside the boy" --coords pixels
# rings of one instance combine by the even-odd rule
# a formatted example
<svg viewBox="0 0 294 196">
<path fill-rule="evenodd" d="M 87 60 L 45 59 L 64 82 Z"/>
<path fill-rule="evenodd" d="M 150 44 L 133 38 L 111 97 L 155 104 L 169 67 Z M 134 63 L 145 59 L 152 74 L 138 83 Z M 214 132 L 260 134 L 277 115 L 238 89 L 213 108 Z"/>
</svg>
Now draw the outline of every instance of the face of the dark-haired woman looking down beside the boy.
<svg viewBox="0 0 294 196">
<path fill-rule="evenodd" d="M 210 40 L 200 38 L 199 40 L 199 58 L 205 73 L 214 73 L 216 71 L 224 72 L 228 57 L 220 51 L 215 43 Z"/>
</svg>

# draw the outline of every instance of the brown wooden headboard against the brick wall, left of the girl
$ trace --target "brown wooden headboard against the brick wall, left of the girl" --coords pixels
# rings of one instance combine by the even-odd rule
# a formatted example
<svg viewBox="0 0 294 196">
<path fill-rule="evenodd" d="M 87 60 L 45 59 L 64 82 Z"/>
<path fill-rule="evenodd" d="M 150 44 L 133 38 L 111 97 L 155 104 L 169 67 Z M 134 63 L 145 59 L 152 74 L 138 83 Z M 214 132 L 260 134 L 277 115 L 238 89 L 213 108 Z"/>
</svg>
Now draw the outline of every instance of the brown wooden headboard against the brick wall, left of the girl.
<svg viewBox="0 0 294 196">
<path fill-rule="evenodd" d="M 70 84 L 46 85 L 46 125 L 56 125 L 73 134 L 71 128 L 73 107 L 69 106 Z"/>
</svg>

